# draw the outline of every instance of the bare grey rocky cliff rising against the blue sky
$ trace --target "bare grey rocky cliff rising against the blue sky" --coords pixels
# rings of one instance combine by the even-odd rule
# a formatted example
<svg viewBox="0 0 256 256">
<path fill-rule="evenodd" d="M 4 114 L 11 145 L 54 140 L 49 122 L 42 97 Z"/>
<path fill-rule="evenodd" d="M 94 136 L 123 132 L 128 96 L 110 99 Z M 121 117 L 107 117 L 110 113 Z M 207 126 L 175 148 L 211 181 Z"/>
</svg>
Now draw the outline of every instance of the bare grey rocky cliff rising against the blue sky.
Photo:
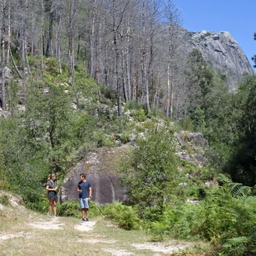
<svg viewBox="0 0 256 256">
<path fill-rule="evenodd" d="M 229 32 L 202 30 L 201 32 L 185 32 L 186 51 L 198 49 L 207 63 L 216 71 L 227 75 L 230 90 L 237 87 L 237 81 L 243 74 L 254 74 L 254 69 Z"/>
</svg>

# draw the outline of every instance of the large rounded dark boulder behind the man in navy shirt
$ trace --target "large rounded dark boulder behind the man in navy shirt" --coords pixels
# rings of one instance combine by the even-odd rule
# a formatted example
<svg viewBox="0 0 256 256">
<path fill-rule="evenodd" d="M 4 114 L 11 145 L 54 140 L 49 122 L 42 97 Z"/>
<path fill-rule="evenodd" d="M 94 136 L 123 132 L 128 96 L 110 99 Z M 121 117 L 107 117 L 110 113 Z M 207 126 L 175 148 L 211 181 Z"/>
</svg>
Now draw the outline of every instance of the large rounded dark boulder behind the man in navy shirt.
<svg viewBox="0 0 256 256">
<path fill-rule="evenodd" d="M 98 205 L 113 200 L 126 200 L 126 188 L 118 184 L 118 161 L 127 153 L 129 145 L 122 147 L 102 147 L 94 150 L 78 163 L 66 176 L 61 186 L 61 202 L 78 200 L 79 175 L 85 173 L 86 180 L 92 183 L 92 199 Z"/>
</svg>

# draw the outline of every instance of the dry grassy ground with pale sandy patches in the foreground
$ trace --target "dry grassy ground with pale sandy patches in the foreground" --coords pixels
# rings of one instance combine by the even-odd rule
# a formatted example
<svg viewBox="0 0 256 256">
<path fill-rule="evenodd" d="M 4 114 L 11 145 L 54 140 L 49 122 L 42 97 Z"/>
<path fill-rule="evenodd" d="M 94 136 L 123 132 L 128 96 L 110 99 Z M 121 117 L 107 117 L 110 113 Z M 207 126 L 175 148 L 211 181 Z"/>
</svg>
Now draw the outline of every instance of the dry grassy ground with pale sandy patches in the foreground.
<svg viewBox="0 0 256 256">
<path fill-rule="evenodd" d="M 107 220 L 87 222 L 34 213 L 23 206 L 0 208 L 0 255 L 170 255 L 177 241 L 154 243 L 142 230 L 126 231 Z M 192 246 L 192 244 L 185 244 Z"/>
</svg>

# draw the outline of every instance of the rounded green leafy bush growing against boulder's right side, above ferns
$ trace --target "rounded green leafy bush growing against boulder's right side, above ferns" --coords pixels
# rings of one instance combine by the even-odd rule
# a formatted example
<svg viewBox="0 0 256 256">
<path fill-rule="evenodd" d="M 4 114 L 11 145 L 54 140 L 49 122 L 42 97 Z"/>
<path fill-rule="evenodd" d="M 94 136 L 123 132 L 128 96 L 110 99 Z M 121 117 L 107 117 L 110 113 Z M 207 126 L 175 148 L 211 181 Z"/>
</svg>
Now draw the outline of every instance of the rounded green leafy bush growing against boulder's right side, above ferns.
<svg viewBox="0 0 256 256">
<path fill-rule="evenodd" d="M 163 206 L 174 193 L 177 161 L 173 131 L 165 127 L 148 130 L 137 137 L 137 148 L 122 160 L 121 184 L 129 189 L 130 200 L 141 206 Z"/>
</svg>

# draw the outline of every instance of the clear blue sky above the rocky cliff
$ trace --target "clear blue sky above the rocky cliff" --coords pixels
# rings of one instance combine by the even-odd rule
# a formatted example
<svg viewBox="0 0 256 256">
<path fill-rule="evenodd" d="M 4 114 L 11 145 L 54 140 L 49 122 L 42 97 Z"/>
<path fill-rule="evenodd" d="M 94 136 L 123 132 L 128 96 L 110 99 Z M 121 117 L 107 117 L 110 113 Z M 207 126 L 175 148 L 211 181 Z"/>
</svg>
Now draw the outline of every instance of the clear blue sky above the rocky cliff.
<svg viewBox="0 0 256 256">
<path fill-rule="evenodd" d="M 182 26 L 191 32 L 228 31 L 248 61 L 256 54 L 256 0 L 174 0 L 182 12 Z M 254 69 L 255 70 L 255 69 Z"/>
</svg>

